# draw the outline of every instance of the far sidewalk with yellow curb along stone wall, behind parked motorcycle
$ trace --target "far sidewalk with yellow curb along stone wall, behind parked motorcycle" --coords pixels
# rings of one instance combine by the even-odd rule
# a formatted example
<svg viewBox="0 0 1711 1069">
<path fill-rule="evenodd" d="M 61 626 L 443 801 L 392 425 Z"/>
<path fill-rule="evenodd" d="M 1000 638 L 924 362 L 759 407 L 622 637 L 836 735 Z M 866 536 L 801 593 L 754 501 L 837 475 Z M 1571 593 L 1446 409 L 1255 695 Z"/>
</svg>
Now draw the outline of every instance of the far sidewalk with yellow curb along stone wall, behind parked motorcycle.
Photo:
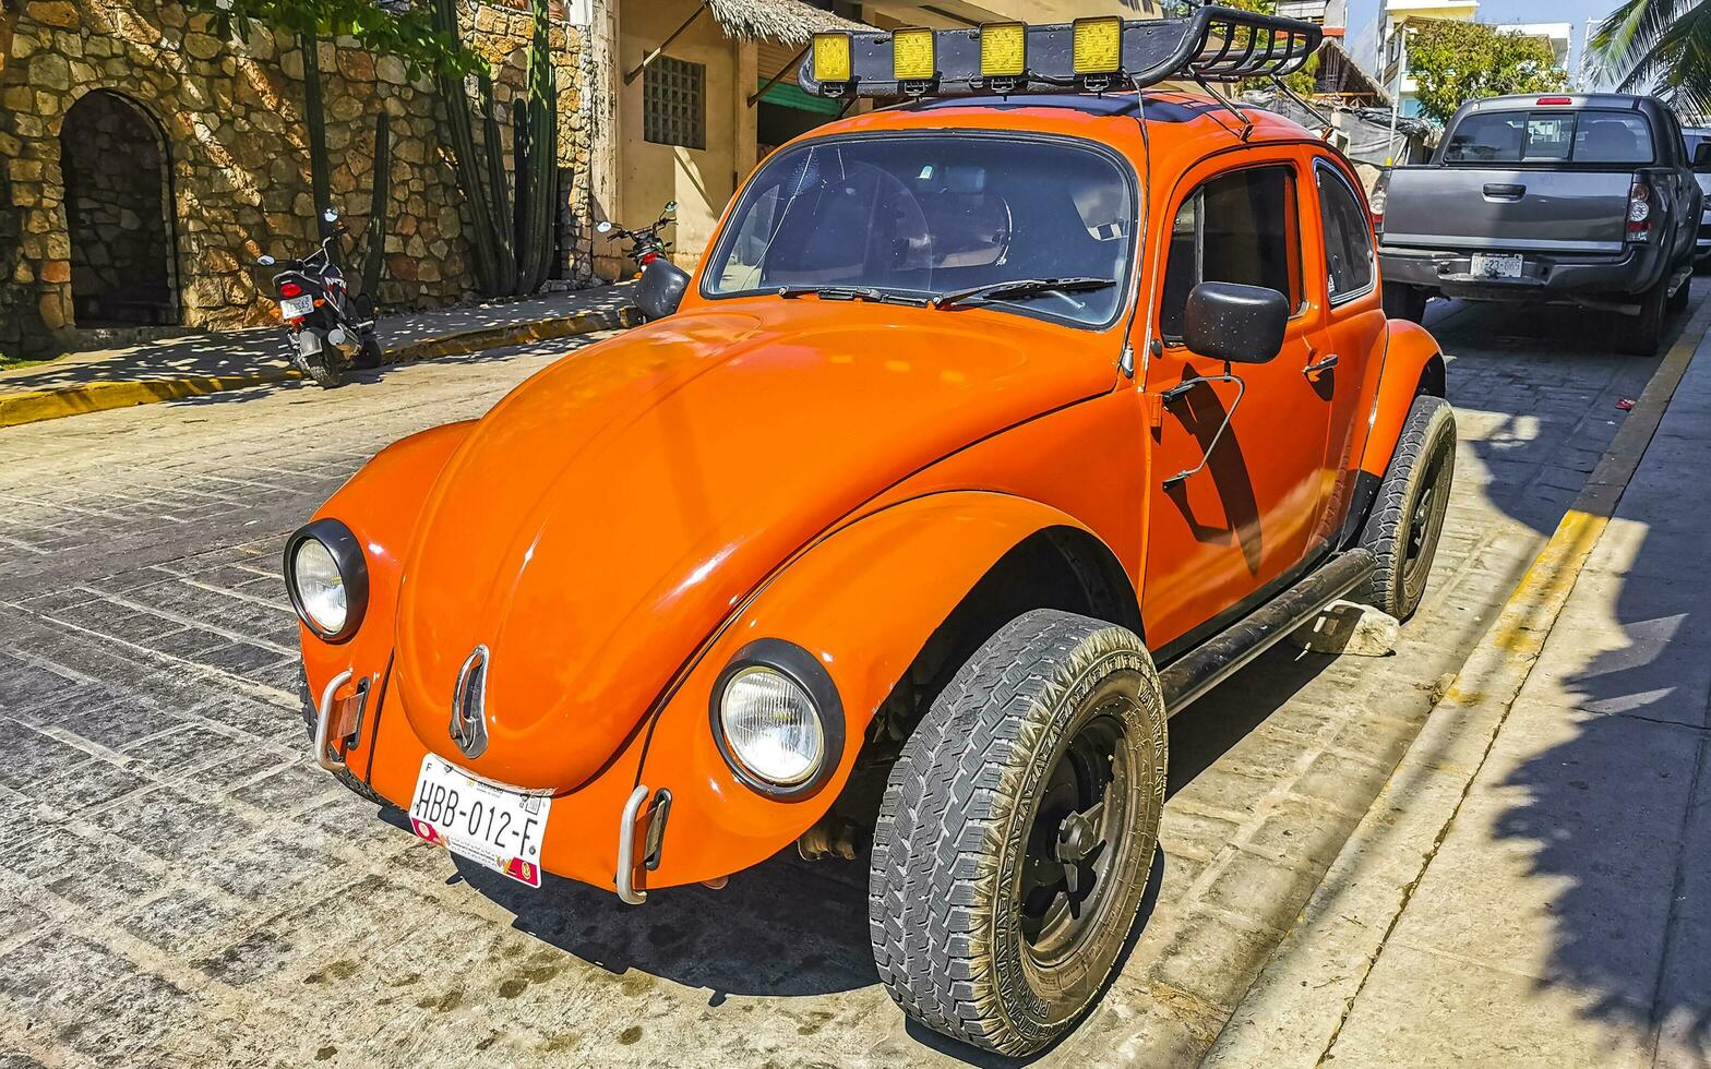
<svg viewBox="0 0 1711 1069">
<path fill-rule="evenodd" d="M 388 364 L 633 325 L 630 284 L 383 316 Z M 72 352 L 0 371 L 0 428 L 298 378 L 282 327 Z"/>
</svg>

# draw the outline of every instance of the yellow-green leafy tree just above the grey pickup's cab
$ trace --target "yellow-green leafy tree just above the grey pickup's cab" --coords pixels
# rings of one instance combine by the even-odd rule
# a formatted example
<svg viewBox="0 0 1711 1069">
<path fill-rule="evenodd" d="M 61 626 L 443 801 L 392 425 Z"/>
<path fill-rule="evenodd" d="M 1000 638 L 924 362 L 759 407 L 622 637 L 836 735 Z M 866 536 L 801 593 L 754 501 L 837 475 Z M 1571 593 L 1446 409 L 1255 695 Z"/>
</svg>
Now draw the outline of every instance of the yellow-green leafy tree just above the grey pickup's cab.
<svg viewBox="0 0 1711 1069">
<path fill-rule="evenodd" d="M 1480 97 L 1569 87 L 1569 74 L 1540 38 L 1441 19 L 1410 22 L 1406 32 L 1420 115 L 1439 123 Z"/>
</svg>

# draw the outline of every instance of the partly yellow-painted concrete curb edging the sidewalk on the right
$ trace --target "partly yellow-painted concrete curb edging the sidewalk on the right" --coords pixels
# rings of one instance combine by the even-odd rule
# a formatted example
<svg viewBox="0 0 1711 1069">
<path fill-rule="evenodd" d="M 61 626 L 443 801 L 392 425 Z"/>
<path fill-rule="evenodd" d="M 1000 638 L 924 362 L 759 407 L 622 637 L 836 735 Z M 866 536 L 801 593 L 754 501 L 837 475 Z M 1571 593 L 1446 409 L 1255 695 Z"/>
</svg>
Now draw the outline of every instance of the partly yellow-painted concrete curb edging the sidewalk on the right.
<svg viewBox="0 0 1711 1069">
<path fill-rule="evenodd" d="M 1694 352 L 1702 301 L 1574 505 L 1499 609 L 1201 1066 L 1317 1066 L 1497 742 Z M 1708 357 L 1711 359 L 1711 357 Z"/>
</svg>

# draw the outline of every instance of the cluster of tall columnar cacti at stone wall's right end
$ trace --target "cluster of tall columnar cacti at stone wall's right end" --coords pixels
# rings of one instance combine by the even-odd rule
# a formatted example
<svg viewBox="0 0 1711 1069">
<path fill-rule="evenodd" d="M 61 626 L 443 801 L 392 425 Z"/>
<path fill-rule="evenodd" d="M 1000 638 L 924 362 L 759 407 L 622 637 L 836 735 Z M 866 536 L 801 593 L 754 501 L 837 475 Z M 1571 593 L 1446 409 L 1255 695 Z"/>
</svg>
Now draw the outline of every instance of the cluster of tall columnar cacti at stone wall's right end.
<svg viewBox="0 0 1711 1069">
<path fill-rule="evenodd" d="M 529 92 L 513 106 L 512 183 L 505 181 L 503 142 L 493 104 L 493 80 L 477 75 L 483 137 L 476 142 L 464 82 L 436 77 L 452 130 L 457 178 L 469 207 L 476 281 L 489 296 L 529 294 L 551 269 L 554 174 L 558 168 L 558 74 L 548 43 L 548 0 L 532 0 Z M 435 27 L 457 34 L 457 0 L 435 0 Z"/>
</svg>

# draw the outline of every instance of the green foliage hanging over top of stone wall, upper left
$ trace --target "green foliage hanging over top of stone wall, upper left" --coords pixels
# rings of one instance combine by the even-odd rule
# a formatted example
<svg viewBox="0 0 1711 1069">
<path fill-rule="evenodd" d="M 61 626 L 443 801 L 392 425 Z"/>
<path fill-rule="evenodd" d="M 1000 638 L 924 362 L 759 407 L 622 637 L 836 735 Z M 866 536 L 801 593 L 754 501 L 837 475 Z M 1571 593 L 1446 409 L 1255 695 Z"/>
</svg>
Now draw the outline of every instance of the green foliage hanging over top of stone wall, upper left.
<svg viewBox="0 0 1711 1069">
<path fill-rule="evenodd" d="M 428 9 L 383 10 L 375 0 L 185 0 L 192 10 L 212 15 L 222 38 L 248 39 L 260 22 L 289 34 L 351 36 L 373 55 L 404 60 L 411 77 L 423 74 L 464 77 L 483 67 L 457 31 L 445 32 Z"/>
</svg>

